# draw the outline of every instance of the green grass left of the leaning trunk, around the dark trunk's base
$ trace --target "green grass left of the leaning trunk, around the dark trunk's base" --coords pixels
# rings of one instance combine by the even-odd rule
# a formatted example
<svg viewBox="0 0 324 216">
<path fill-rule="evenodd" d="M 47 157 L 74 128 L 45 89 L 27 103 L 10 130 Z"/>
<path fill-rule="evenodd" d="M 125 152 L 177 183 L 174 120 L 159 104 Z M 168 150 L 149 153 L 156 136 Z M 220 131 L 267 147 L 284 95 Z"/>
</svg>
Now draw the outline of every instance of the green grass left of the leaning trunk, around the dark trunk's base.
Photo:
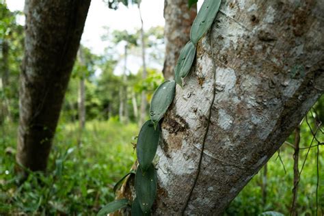
<svg viewBox="0 0 324 216">
<path fill-rule="evenodd" d="M 20 186 L 14 172 L 17 125 L 0 127 L 0 215 L 96 215 L 114 200 L 113 185 L 135 160 L 137 124 L 87 122 L 77 146 L 78 124 L 62 120 L 46 174 L 33 172 Z"/>
</svg>

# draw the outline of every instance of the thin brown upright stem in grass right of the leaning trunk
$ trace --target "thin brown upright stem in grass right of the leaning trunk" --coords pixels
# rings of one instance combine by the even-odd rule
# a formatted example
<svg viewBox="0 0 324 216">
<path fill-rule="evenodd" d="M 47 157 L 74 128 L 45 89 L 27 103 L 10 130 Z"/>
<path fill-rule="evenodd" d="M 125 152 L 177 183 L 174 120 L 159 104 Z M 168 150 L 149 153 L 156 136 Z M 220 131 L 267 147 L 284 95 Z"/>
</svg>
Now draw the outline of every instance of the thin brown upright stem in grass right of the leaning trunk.
<svg viewBox="0 0 324 216">
<path fill-rule="evenodd" d="M 293 202 L 291 204 L 291 215 L 297 216 L 297 197 L 298 197 L 298 184 L 299 184 L 299 141 L 300 141 L 300 126 L 295 129 L 295 152 L 294 152 L 294 187 L 293 187 Z"/>
</svg>

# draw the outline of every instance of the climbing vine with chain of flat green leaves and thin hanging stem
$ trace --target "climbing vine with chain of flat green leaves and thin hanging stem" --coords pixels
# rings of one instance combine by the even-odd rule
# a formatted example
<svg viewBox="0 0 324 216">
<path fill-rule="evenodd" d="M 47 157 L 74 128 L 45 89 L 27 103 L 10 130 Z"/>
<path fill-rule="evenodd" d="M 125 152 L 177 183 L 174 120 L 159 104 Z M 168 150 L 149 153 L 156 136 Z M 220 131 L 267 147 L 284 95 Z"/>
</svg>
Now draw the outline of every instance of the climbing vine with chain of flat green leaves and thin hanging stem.
<svg viewBox="0 0 324 216">
<path fill-rule="evenodd" d="M 197 1 L 189 1 L 189 5 L 191 5 L 193 2 Z M 131 200 L 126 199 L 115 200 L 107 204 L 107 206 L 103 207 L 99 211 L 98 216 L 107 215 L 107 213 L 112 213 L 120 208 L 124 208 L 130 205 L 132 206 L 132 215 L 150 215 L 150 209 L 152 208 L 157 195 L 157 172 L 152 162 L 157 152 L 159 137 L 161 135 L 160 121 L 161 118 L 163 118 L 163 116 L 165 115 L 167 109 L 170 107 L 172 100 L 174 99 L 174 96 L 176 94 L 176 83 L 178 83 L 178 85 L 180 85 L 181 87 L 183 86 L 183 79 L 185 79 L 185 77 L 187 77 L 187 75 L 189 74 L 193 60 L 195 59 L 197 43 L 211 28 L 211 25 L 215 20 L 215 16 L 219 10 L 220 3 L 221 0 L 205 0 L 204 3 L 202 3 L 202 7 L 200 8 L 197 17 L 195 18 L 195 21 L 193 21 L 193 25 L 191 27 L 190 41 L 187 42 L 185 47 L 181 50 L 178 61 L 176 63 L 176 67 L 174 68 L 175 81 L 165 81 L 157 88 L 157 90 L 155 90 L 152 96 L 150 103 L 150 120 L 143 124 L 137 138 L 136 153 L 139 166 L 137 167 L 136 172 L 132 170 L 129 173 L 135 173 L 135 200 L 133 200 L 133 203 L 131 203 Z M 214 94 L 211 106 L 213 105 L 213 101 L 215 99 L 215 82 L 213 89 Z M 209 109 L 208 113 L 207 129 L 206 133 L 204 134 L 202 152 L 204 150 L 204 143 L 206 140 L 206 135 L 208 133 L 208 125 L 210 120 L 211 109 Z M 189 203 L 189 200 L 191 198 L 191 193 L 195 187 L 195 183 L 197 182 L 200 173 L 201 161 L 202 154 L 200 154 L 198 172 L 195 176 L 191 191 L 187 197 L 187 203 L 183 208 L 183 213 L 187 208 L 187 204 Z M 126 174 L 126 176 L 128 176 L 129 174 Z M 114 191 L 118 189 L 118 186 L 122 183 L 126 176 L 124 176 L 116 184 Z"/>
</svg>

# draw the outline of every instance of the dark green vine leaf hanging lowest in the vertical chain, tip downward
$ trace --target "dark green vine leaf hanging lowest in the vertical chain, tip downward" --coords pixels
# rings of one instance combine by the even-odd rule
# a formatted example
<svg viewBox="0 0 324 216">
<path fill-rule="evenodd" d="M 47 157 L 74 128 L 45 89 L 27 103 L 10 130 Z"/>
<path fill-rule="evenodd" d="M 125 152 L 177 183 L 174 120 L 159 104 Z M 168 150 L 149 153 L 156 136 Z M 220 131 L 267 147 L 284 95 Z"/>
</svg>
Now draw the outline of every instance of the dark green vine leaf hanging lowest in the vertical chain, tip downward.
<svg viewBox="0 0 324 216">
<path fill-rule="evenodd" d="M 137 168 L 135 191 L 141 211 L 148 213 L 157 195 L 157 172 L 154 165 L 150 165 L 146 172 L 142 172 L 141 168 Z"/>
</svg>

